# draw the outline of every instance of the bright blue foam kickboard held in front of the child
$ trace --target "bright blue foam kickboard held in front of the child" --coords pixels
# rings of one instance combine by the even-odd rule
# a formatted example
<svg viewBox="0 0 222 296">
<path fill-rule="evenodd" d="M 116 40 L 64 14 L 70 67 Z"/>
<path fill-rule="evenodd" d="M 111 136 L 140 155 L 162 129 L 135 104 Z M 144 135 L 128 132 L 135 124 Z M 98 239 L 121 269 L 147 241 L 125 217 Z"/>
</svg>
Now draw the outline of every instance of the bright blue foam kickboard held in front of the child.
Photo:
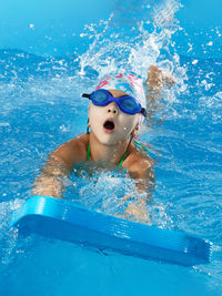
<svg viewBox="0 0 222 296">
<path fill-rule="evenodd" d="M 37 233 L 124 255 L 193 266 L 210 261 L 212 244 L 196 236 L 104 215 L 74 203 L 33 196 L 12 214 L 21 234 Z"/>
</svg>

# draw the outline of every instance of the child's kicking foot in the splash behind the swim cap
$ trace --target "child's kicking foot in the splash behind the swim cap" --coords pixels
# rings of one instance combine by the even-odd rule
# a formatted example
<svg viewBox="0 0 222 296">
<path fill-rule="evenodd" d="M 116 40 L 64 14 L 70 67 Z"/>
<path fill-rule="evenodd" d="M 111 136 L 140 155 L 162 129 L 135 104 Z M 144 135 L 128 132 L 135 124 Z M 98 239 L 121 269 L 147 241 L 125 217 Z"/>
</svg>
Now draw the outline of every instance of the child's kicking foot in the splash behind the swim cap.
<svg viewBox="0 0 222 296">
<path fill-rule="evenodd" d="M 175 79 L 169 72 L 164 72 L 157 65 L 149 67 L 147 80 L 148 88 L 154 90 L 162 90 L 163 88 L 171 89 L 175 83 Z"/>
</svg>

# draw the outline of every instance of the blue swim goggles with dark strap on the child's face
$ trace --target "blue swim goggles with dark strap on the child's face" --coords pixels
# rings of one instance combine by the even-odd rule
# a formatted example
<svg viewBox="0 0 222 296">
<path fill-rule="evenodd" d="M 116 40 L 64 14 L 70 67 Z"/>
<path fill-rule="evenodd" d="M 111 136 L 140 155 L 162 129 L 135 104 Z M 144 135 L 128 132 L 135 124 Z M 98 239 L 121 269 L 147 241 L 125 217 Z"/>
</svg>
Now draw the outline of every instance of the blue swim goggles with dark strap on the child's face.
<svg viewBox="0 0 222 296">
<path fill-rule="evenodd" d="M 100 89 L 92 92 L 91 94 L 83 93 L 82 96 L 91 100 L 94 105 L 105 106 L 111 102 L 115 102 L 120 110 L 124 113 L 128 113 L 130 115 L 142 113 L 144 118 L 147 116 L 145 109 L 142 108 L 141 104 L 130 95 L 114 98 L 109 91 Z"/>
</svg>

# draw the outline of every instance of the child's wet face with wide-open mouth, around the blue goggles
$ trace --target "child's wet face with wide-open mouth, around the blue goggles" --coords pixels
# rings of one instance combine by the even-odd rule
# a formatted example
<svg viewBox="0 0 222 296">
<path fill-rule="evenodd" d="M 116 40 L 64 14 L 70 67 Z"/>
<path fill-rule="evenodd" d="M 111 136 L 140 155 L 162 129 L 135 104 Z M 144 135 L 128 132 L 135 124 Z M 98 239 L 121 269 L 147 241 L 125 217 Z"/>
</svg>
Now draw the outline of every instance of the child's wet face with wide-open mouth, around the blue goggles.
<svg viewBox="0 0 222 296">
<path fill-rule="evenodd" d="M 109 90 L 114 98 L 127 95 L 119 90 Z M 90 103 L 89 124 L 99 142 L 103 144 L 115 144 L 129 140 L 137 130 L 139 114 L 130 115 L 122 112 L 115 102 L 105 106 L 97 106 Z"/>
</svg>

